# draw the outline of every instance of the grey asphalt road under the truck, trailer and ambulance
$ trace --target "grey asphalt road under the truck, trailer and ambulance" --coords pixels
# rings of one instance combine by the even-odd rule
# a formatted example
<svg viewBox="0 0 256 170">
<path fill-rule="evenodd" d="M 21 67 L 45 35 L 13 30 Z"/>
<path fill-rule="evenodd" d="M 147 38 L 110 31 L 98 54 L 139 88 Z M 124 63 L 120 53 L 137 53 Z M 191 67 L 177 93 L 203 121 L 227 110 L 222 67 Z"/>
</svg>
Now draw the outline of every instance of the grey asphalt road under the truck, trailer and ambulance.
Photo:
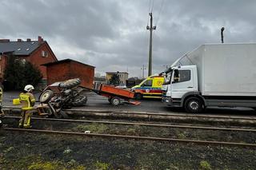
<svg viewBox="0 0 256 170">
<path fill-rule="evenodd" d="M 3 107 L 12 105 L 12 100 L 18 97 L 19 92 L 4 92 L 3 94 Z M 38 99 L 40 93 L 34 93 Z M 161 100 L 146 99 L 141 100 L 140 105 L 130 105 L 123 103 L 119 106 L 110 105 L 106 97 L 102 97 L 96 93 L 86 93 L 88 101 L 85 106 L 79 107 L 80 109 L 91 110 L 107 110 L 107 111 L 122 111 L 122 112 L 150 112 L 150 113 L 185 113 L 183 109 L 171 109 L 162 103 Z M 76 108 L 78 109 L 78 108 Z M 248 108 L 207 108 L 202 114 L 221 114 L 221 115 L 252 115 L 256 116 L 253 109 Z"/>
</svg>

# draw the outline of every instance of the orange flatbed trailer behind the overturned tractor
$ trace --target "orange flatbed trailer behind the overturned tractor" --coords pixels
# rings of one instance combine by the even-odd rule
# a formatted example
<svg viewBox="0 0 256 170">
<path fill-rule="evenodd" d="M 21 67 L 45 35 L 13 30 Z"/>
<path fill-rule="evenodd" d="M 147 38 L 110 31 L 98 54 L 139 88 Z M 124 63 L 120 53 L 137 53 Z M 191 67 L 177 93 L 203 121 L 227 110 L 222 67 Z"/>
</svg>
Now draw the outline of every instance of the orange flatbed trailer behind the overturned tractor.
<svg viewBox="0 0 256 170">
<path fill-rule="evenodd" d="M 134 98 L 134 92 L 127 89 L 118 89 L 112 85 L 98 85 L 97 89 L 93 89 L 95 93 L 108 97 L 112 105 L 120 105 L 122 100 L 128 101 Z M 139 105 L 140 102 L 129 102 L 133 105 Z"/>
</svg>

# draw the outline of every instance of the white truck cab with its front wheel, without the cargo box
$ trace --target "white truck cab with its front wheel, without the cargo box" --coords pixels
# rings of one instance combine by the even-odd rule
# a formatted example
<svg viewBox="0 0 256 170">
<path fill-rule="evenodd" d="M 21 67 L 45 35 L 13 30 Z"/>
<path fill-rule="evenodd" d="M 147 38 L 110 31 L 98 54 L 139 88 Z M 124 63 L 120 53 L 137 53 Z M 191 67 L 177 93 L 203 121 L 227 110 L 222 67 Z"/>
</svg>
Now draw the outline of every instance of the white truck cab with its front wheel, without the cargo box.
<svg viewBox="0 0 256 170">
<path fill-rule="evenodd" d="M 204 108 L 198 91 L 196 65 L 174 66 L 165 72 L 162 101 L 171 107 L 184 107 L 187 112 L 199 113 Z"/>
</svg>

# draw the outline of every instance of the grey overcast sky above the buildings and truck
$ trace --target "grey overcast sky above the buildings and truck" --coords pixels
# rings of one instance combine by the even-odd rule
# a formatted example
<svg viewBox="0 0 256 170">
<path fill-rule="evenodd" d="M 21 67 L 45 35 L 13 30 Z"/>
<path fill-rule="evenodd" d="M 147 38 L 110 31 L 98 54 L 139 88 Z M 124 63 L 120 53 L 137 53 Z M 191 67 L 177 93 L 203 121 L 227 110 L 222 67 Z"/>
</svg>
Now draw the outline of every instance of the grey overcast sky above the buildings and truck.
<svg viewBox="0 0 256 170">
<path fill-rule="evenodd" d="M 46 40 L 58 60 L 108 71 L 148 72 L 153 13 L 153 73 L 204 43 L 256 42 L 255 0 L 0 0 L 0 38 Z"/>
</svg>

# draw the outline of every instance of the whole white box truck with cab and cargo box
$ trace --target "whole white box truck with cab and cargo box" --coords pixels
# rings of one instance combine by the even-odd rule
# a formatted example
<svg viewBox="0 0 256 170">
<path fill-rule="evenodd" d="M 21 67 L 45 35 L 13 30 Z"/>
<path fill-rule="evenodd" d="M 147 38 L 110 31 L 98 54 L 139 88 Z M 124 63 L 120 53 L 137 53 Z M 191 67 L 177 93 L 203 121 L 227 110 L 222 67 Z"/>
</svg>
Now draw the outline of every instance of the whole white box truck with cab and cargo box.
<svg viewBox="0 0 256 170">
<path fill-rule="evenodd" d="M 256 108 L 256 43 L 201 45 L 164 74 L 162 101 L 172 107 Z"/>
</svg>

